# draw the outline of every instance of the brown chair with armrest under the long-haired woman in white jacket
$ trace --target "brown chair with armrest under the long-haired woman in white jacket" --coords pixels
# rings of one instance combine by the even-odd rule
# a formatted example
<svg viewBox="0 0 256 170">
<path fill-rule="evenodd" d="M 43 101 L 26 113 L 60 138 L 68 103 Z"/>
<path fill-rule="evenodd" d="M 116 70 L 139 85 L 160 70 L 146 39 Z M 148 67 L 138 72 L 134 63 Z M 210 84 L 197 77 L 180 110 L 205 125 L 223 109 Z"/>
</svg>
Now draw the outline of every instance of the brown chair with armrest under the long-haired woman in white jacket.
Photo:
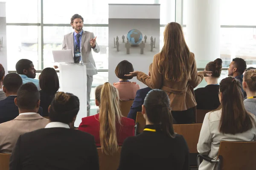
<svg viewBox="0 0 256 170">
<path fill-rule="evenodd" d="M 218 170 L 254 170 L 256 167 L 256 142 L 221 141 L 216 160 L 198 155 L 199 159 L 217 163 Z"/>
</svg>

